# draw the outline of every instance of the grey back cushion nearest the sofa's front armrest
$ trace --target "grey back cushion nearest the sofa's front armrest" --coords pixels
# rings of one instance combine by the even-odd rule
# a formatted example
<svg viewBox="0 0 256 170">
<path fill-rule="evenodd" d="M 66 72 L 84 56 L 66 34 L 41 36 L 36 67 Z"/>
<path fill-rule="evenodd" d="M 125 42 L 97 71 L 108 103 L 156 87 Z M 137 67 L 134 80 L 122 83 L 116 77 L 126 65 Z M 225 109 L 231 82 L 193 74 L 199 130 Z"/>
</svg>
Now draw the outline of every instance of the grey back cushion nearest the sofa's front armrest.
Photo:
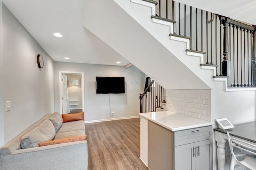
<svg viewBox="0 0 256 170">
<path fill-rule="evenodd" d="M 32 129 L 21 138 L 21 148 L 39 147 L 39 142 L 51 141 L 55 136 L 55 128 L 52 122 L 47 119 L 38 127 Z"/>
</svg>

